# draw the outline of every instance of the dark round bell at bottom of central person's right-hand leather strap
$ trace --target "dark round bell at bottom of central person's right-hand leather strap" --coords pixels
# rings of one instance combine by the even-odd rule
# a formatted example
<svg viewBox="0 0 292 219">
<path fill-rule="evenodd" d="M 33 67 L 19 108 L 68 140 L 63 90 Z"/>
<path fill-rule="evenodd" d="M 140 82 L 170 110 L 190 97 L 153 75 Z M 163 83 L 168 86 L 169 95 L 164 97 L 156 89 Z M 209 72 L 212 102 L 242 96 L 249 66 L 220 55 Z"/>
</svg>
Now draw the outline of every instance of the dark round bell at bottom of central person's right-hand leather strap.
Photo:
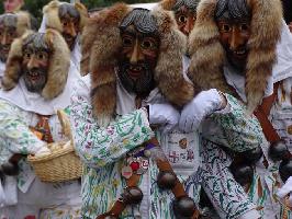
<svg viewBox="0 0 292 219">
<path fill-rule="evenodd" d="M 191 219 L 195 211 L 195 205 L 192 198 L 186 196 L 173 201 L 173 212 L 177 219 Z"/>
</svg>

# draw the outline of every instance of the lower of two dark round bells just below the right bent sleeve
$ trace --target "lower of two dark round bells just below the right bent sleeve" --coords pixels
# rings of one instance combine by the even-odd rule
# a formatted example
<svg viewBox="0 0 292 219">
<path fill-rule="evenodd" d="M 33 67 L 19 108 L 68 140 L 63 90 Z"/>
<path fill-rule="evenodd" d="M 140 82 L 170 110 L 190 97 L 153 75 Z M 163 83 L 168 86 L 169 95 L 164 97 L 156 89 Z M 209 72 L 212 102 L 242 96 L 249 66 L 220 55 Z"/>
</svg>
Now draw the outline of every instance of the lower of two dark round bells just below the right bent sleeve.
<svg viewBox="0 0 292 219">
<path fill-rule="evenodd" d="M 247 164 L 236 165 L 233 163 L 229 169 L 235 181 L 239 183 L 242 186 L 251 183 L 254 177 L 254 170 L 250 165 Z"/>
</svg>

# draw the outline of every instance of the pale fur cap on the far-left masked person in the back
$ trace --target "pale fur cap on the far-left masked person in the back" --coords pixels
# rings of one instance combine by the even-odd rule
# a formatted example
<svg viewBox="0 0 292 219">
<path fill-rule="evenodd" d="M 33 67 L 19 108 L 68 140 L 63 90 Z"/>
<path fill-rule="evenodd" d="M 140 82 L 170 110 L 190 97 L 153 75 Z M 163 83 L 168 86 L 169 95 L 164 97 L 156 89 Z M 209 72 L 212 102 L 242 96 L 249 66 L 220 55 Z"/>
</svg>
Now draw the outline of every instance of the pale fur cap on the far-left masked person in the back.
<svg viewBox="0 0 292 219">
<path fill-rule="evenodd" d="M 0 15 L 0 23 L 4 22 L 8 16 L 15 16 L 16 19 L 16 33 L 18 37 L 22 36 L 25 31 L 32 30 L 32 18 L 31 14 L 25 11 L 20 11 L 18 13 L 4 13 Z"/>
</svg>

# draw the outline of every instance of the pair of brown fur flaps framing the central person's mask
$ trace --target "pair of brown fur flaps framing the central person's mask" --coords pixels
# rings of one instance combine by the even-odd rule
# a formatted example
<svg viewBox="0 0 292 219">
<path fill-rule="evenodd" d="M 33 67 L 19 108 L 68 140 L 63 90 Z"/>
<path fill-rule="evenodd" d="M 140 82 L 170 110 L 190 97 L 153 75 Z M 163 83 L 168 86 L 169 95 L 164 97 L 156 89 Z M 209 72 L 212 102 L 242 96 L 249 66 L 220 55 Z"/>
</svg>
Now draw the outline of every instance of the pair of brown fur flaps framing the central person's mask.
<svg viewBox="0 0 292 219">
<path fill-rule="evenodd" d="M 101 126 L 106 126 L 115 115 L 115 67 L 122 48 L 119 25 L 133 10 L 117 3 L 89 19 L 81 35 L 81 71 L 91 72 L 91 102 L 93 114 Z M 156 19 L 160 39 L 154 78 L 166 99 L 182 106 L 193 97 L 193 87 L 182 76 L 182 55 L 187 38 L 178 31 L 170 12 L 149 12 Z"/>
</svg>

